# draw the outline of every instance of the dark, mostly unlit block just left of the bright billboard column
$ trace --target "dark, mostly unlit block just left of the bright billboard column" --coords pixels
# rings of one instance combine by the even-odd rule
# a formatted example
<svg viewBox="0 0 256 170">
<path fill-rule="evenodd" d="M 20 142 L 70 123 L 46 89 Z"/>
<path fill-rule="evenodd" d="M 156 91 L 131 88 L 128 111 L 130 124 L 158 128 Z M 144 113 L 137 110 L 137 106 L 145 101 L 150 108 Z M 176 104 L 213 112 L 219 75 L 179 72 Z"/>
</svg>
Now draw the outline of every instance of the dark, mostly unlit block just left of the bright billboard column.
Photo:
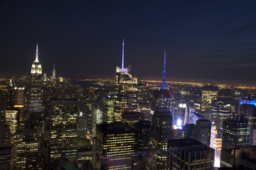
<svg viewBox="0 0 256 170">
<path fill-rule="evenodd" d="M 211 126 L 212 126 L 212 123 L 210 120 L 206 120 L 206 119 L 197 120 L 196 128 L 195 128 L 195 136 L 193 137 L 193 139 L 209 146 Z"/>
</svg>

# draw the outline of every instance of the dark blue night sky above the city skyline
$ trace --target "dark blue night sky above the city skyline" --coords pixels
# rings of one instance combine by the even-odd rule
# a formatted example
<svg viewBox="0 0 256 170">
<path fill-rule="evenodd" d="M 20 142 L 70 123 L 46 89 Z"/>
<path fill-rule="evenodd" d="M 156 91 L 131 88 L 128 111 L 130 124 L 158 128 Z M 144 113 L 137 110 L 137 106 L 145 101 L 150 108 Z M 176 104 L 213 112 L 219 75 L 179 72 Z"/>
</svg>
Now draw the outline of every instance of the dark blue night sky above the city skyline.
<svg viewBox="0 0 256 170">
<path fill-rule="evenodd" d="M 255 82 L 256 1 L 0 0 L 0 74 Z"/>
</svg>

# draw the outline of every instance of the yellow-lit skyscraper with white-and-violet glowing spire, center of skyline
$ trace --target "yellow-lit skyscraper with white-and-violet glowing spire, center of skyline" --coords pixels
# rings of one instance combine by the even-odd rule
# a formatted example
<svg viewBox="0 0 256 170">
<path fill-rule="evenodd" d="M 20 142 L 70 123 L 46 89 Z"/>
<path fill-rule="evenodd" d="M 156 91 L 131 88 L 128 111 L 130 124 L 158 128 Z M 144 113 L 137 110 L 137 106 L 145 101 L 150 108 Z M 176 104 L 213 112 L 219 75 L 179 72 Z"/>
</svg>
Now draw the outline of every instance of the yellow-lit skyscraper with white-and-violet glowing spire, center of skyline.
<svg viewBox="0 0 256 170">
<path fill-rule="evenodd" d="M 122 68 L 117 67 L 114 89 L 114 120 L 121 121 L 122 113 L 137 111 L 138 81 L 124 68 L 124 40 L 122 45 Z"/>
</svg>

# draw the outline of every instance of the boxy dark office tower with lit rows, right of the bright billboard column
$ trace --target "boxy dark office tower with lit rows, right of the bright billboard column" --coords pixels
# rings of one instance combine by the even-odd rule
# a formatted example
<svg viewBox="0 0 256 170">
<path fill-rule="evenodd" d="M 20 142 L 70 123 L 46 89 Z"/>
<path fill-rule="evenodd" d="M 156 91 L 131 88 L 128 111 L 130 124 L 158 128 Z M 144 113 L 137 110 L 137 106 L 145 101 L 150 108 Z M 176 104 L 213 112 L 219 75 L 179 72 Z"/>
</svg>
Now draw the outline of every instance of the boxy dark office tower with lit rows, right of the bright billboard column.
<svg viewBox="0 0 256 170">
<path fill-rule="evenodd" d="M 250 126 L 244 116 L 237 116 L 235 120 L 223 121 L 222 149 L 248 145 L 249 137 Z"/>
</svg>

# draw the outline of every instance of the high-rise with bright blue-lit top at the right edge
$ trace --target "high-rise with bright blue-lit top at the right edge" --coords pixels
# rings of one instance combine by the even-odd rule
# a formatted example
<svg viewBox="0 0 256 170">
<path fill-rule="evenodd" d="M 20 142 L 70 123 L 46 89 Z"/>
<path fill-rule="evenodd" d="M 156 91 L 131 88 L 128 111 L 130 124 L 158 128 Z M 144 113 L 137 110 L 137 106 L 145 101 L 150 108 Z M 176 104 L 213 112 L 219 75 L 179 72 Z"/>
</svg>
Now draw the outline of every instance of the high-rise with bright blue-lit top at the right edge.
<svg viewBox="0 0 256 170">
<path fill-rule="evenodd" d="M 256 145 L 256 99 L 239 98 L 238 115 L 243 115 L 248 120 L 250 127 L 250 145 Z"/>
</svg>

